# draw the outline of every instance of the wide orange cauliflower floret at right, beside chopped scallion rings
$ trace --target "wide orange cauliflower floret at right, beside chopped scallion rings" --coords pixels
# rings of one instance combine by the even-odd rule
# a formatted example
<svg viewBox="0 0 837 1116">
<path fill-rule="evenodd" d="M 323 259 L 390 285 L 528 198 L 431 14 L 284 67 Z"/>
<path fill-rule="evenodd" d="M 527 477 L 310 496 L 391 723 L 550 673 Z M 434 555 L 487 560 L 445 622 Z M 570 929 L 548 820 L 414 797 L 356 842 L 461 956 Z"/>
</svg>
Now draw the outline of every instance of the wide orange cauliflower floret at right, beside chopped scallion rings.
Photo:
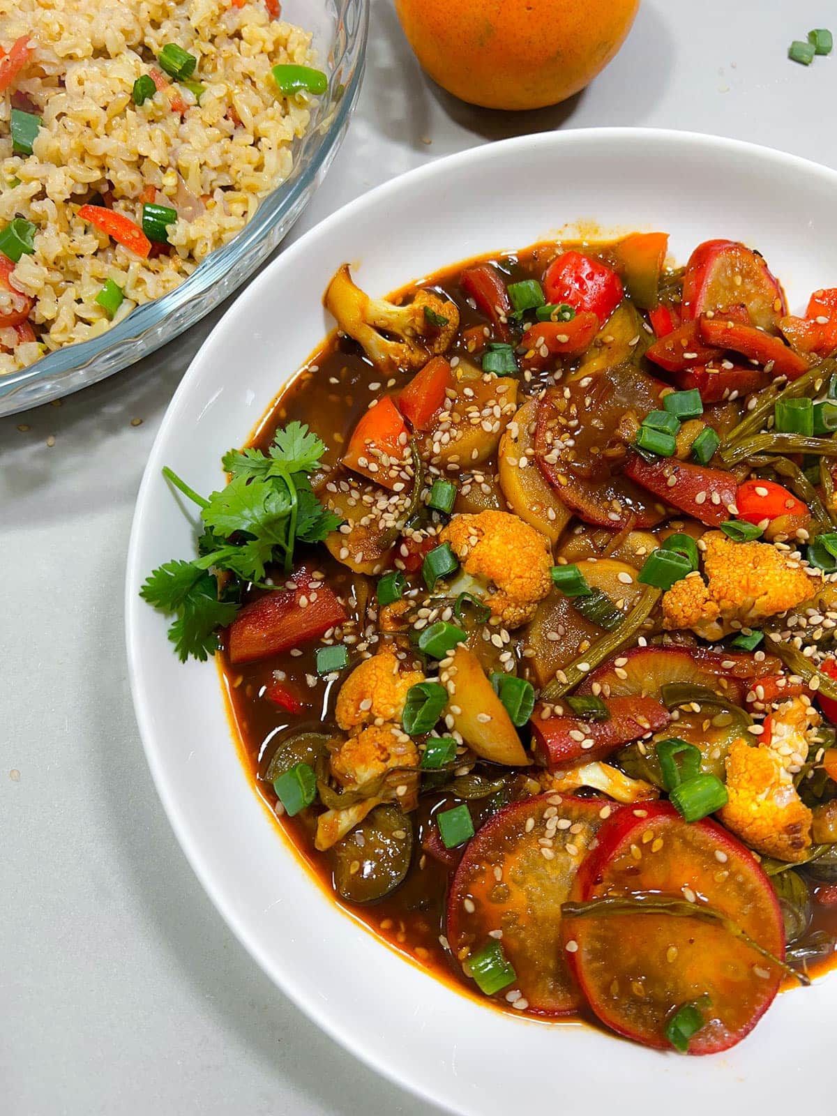
<svg viewBox="0 0 837 1116">
<path fill-rule="evenodd" d="M 767 542 L 733 542 L 721 531 L 702 539 L 703 569 L 675 581 L 663 597 L 666 628 L 691 627 L 715 641 L 733 631 L 732 620 L 757 626 L 768 616 L 808 600 L 818 583 L 789 554 Z"/>
</svg>

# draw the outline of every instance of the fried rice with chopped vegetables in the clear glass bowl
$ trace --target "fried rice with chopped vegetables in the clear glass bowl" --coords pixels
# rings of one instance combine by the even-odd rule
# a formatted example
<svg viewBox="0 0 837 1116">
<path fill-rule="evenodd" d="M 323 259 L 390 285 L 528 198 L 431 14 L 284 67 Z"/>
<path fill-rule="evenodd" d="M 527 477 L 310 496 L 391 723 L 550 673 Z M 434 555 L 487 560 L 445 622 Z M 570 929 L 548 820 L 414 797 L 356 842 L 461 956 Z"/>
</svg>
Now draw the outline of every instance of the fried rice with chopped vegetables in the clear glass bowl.
<svg viewBox="0 0 837 1116">
<path fill-rule="evenodd" d="M 114 320 L 176 287 L 288 176 L 310 98 L 281 96 L 271 67 L 311 65 L 311 37 L 271 11 L 276 0 L 0 0 L 2 54 L 26 36 L 31 48 L 0 94 L 0 229 L 35 225 L 31 254 L 10 275 L 7 261 L 6 286 L 0 273 L 0 375 L 107 329 L 108 279 L 124 295 Z M 198 59 L 198 96 L 157 68 L 166 44 Z M 135 104 L 135 80 L 155 74 Z M 31 155 L 13 153 L 13 108 L 42 119 Z M 177 220 L 147 258 L 78 215 L 93 202 L 141 224 L 150 200 Z M 16 291 L 35 300 L 17 328 Z"/>
</svg>

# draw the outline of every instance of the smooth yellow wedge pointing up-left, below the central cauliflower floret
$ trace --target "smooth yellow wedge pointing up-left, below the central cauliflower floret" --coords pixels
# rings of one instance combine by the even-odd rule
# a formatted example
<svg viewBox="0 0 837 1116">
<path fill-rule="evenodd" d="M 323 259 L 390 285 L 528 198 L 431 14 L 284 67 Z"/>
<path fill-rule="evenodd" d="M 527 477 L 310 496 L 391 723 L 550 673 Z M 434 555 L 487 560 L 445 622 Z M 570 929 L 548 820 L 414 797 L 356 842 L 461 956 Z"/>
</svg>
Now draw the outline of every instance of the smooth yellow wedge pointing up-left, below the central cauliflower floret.
<svg viewBox="0 0 837 1116">
<path fill-rule="evenodd" d="M 477 656 L 460 644 L 453 653 L 449 685 L 454 693 L 448 705 L 453 728 L 478 756 L 491 763 L 525 767 L 529 757 L 511 718 L 480 666 Z M 455 712 L 459 710 L 459 712 Z"/>
</svg>

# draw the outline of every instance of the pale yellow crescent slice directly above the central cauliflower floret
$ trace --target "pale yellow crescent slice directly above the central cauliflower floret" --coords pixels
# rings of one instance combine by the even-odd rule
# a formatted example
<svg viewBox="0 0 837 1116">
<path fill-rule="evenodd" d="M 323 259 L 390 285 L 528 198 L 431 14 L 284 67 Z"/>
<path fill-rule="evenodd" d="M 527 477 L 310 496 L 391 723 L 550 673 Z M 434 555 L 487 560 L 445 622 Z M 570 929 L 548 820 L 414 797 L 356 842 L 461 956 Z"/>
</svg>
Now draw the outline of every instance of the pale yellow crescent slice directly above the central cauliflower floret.
<svg viewBox="0 0 837 1116">
<path fill-rule="evenodd" d="M 538 402 L 529 400 L 500 439 L 500 488 L 511 510 L 555 546 L 573 512 L 558 499 L 535 460 L 537 420 Z M 525 469 L 518 464 L 521 459 L 529 462 Z"/>
</svg>

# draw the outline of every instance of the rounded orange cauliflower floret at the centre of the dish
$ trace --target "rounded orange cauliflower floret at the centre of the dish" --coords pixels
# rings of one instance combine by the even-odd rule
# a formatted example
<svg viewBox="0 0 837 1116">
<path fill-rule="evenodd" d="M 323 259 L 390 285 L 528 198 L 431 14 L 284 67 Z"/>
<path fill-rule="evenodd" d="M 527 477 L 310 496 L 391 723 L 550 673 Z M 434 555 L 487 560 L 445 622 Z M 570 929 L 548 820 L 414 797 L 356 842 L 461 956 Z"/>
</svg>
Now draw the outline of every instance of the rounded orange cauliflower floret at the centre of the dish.
<svg viewBox="0 0 837 1116">
<path fill-rule="evenodd" d="M 485 604 L 508 628 L 527 624 L 552 586 L 548 540 L 508 511 L 454 516 L 440 540 L 450 542 L 465 574 L 497 587 Z"/>
</svg>

